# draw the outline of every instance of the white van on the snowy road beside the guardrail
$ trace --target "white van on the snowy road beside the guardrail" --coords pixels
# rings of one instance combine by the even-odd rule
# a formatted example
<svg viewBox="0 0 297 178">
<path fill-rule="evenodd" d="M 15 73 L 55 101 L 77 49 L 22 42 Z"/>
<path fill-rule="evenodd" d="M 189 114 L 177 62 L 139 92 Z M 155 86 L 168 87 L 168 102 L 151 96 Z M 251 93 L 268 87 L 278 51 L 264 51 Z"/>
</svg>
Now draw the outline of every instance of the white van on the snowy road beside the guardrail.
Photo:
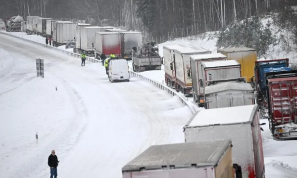
<svg viewBox="0 0 297 178">
<path fill-rule="evenodd" d="M 129 65 L 126 59 L 111 59 L 108 78 L 110 82 L 130 81 Z"/>
</svg>

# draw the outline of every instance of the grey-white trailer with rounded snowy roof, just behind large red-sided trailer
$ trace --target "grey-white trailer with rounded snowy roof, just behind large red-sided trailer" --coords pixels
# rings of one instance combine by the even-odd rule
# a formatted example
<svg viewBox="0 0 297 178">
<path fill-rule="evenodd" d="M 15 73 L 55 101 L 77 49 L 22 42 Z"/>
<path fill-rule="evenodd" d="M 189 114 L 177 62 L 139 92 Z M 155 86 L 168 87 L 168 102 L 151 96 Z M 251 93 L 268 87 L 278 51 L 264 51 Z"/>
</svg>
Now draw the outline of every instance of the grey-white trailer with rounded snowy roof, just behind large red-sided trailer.
<svg viewBox="0 0 297 178">
<path fill-rule="evenodd" d="M 255 104 L 254 90 L 246 81 L 205 87 L 205 109 Z"/>
</svg>

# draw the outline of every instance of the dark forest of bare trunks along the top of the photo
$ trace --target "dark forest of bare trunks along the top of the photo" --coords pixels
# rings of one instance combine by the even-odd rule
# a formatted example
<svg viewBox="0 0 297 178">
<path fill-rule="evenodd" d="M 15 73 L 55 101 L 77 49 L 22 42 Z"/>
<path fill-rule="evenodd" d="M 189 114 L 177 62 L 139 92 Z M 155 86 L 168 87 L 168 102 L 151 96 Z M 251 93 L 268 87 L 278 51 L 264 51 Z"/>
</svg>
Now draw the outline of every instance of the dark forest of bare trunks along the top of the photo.
<svg viewBox="0 0 297 178">
<path fill-rule="evenodd" d="M 39 15 L 121 26 L 156 39 L 220 30 L 297 0 L 1 0 L 0 18 Z"/>
</svg>

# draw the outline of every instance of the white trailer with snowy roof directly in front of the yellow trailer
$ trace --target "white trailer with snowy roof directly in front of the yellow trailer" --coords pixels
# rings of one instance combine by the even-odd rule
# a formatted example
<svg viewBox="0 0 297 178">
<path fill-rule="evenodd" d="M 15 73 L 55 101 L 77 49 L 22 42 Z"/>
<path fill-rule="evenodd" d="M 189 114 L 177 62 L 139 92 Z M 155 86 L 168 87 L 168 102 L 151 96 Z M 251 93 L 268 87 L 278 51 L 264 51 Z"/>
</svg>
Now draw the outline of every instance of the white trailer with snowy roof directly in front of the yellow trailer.
<svg viewBox="0 0 297 178">
<path fill-rule="evenodd" d="M 241 65 L 236 60 L 201 62 L 200 65 L 202 81 L 199 85 L 203 91 L 211 81 L 241 78 Z"/>
</svg>

